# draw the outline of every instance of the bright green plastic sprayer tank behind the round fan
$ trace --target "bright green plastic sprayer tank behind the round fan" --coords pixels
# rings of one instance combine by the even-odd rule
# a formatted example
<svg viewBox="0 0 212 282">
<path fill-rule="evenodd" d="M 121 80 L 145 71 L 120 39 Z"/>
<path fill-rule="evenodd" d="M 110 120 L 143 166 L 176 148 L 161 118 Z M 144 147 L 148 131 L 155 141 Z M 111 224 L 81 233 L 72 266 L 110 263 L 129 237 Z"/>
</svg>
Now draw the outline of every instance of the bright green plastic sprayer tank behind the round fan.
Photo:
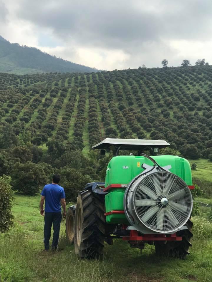
<svg viewBox="0 0 212 282">
<path fill-rule="evenodd" d="M 178 175 L 188 186 L 192 185 L 191 167 L 187 160 L 170 155 L 152 156 L 152 158 L 161 167 L 171 165 L 170 172 Z M 124 209 L 125 184 L 129 184 L 133 178 L 144 171 L 143 164 L 153 165 L 149 159 L 143 156 L 116 156 L 110 160 L 106 171 L 105 187 L 109 187 L 112 184 L 122 184 L 123 188 L 108 189 L 108 194 L 105 195 L 106 213 L 110 211 L 122 211 Z M 106 216 L 106 221 L 109 224 L 128 223 L 125 214 L 115 213 Z"/>
</svg>

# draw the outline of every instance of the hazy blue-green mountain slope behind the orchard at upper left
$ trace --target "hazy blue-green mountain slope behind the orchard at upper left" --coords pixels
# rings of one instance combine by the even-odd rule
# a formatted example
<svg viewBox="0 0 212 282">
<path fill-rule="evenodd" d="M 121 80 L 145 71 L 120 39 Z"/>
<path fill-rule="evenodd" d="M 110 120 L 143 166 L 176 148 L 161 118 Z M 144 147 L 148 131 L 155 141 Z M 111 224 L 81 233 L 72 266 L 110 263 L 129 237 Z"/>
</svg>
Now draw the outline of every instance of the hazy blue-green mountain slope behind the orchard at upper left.
<svg viewBox="0 0 212 282">
<path fill-rule="evenodd" d="M 43 72 L 96 72 L 94 68 L 82 66 L 56 58 L 37 48 L 10 43 L 0 36 L 0 72 L 32 74 Z"/>
</svg>

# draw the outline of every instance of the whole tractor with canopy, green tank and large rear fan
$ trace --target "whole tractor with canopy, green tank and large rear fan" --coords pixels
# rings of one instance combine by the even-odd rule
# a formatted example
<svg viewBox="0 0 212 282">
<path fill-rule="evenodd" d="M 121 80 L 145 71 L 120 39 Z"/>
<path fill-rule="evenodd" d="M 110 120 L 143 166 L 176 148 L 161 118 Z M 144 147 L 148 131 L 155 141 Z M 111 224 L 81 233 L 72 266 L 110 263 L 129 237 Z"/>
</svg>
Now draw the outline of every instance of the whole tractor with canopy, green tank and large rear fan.
<svg viewBox="0 0 212 282">
<path fill-rule="evenodd" d="M 104 241 L 112 245 L 114 239 L 141 251 L 154 245 L 158 255 L 184 259 L 190 253 L 191 167 L 182 157 L 159 155 L 168 146 L 163 140 L 106 138 L 92 147 L 114 156 L 105 182 L 88 183 L 67 212 L 67 240 L 79 258 L 99 258 Z"/>
</svg>

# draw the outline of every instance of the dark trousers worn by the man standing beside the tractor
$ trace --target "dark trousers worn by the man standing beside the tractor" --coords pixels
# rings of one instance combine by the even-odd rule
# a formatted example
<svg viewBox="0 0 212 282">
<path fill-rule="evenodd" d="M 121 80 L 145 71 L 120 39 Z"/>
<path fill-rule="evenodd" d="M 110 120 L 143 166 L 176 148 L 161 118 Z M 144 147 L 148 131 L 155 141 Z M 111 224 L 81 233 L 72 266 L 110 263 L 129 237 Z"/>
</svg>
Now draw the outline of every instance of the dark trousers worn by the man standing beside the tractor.
<svg viewBox="0 0 212 282">
<path fill-rule="evenodd" d="M 49 239 L 51 237 L 52 223 L 53 223 L 53 230 L 54 230 L 53 239 L 52 239 L 52 249 L 53 250 L 57 249 L 61 220 L 62 220 L 61 212 L 45 212 L 45 215 L 44 215 L 45 250 L 49 250 Z"/>
</svg>

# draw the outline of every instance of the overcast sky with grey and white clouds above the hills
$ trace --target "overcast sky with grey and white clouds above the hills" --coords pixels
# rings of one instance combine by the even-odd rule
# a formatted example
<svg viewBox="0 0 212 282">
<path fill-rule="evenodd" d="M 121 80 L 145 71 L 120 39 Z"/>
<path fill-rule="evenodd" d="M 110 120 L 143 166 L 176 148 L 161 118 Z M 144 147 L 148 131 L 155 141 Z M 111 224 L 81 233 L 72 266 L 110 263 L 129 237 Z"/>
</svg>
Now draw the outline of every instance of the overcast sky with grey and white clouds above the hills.
<svg viewBox="0 0 212 282">
<path fill-rule="evenodd" d="M 212 64 L 212 1 L 0 0 L 0 35 L 105 70 Z"/>
</svg>

